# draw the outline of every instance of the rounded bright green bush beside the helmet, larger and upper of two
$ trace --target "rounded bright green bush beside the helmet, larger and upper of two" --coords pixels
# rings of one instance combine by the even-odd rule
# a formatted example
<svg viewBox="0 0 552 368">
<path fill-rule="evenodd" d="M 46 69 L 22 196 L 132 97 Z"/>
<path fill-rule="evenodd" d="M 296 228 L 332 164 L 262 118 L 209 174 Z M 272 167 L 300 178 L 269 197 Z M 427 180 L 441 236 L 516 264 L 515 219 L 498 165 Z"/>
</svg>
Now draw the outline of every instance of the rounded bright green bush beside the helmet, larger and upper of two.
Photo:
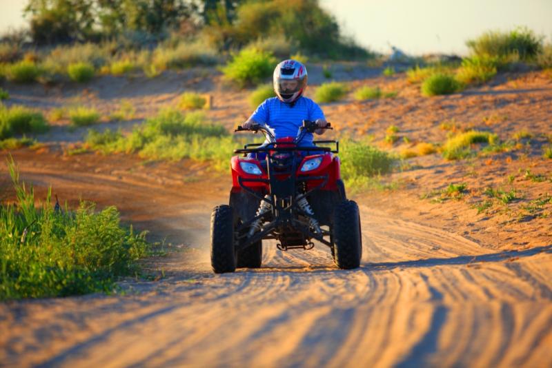
<svg viewBox="0 0 552 368">
<path fill-rule="evenodd" d="M 222 72 L 240 86 L 259 83 L 273 73 L 276 60 L 269 52 L 246 48 L 235 54 Z"/>
</svg>

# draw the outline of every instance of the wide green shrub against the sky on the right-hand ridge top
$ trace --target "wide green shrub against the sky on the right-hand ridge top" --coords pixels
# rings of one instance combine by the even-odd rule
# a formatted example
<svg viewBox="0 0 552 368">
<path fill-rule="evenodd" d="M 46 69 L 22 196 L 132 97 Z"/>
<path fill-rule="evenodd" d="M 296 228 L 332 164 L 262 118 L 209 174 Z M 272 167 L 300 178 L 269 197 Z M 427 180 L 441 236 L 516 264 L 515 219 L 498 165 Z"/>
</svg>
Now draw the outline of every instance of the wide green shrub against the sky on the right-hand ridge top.
<svg viewBox="0 0 552 368">
<path fill-rule="evenodd" d="M 510 32 L 486 32 L 477 39 L 467 41 L 466 45 L 478 56 L 501 59 L 515 54 L 521 60 L 529 61 L 542 50 L 542 37 L 528 28 L 517 28 Z"/>
</svg>

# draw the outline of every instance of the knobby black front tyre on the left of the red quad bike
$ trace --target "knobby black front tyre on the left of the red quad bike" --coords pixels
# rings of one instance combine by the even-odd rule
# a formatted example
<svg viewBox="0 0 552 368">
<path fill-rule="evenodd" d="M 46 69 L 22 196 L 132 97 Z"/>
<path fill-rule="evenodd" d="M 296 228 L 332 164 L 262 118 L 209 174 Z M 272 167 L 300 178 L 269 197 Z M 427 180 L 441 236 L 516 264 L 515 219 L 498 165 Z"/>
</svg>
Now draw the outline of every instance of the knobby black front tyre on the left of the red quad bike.
<svg viewBox="0 0 552 368">
<path fill-rule="evenodd" d="M 215 274 L 234 272 L 236 252 L 234 247 L 234 210 L 229 205 L 219 205 L 211 214 L 211 267 Z"/>
</svg>

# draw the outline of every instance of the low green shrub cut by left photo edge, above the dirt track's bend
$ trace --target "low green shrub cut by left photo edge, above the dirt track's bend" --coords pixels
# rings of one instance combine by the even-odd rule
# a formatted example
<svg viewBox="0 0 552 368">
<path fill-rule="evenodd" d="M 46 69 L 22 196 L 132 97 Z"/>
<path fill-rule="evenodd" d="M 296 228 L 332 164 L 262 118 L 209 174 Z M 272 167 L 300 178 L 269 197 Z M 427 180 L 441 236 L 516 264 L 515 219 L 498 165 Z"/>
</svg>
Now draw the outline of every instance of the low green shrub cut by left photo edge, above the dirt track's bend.
<svg viewBox="0 0 552 368">
<path fill-rule="evenodd" d="M 0 139 L 10 138 L 14 134 L 43 133 L 48 130 L 44 116 L 23 106 L 6 108 L 0 105 Z"/>
</svg>

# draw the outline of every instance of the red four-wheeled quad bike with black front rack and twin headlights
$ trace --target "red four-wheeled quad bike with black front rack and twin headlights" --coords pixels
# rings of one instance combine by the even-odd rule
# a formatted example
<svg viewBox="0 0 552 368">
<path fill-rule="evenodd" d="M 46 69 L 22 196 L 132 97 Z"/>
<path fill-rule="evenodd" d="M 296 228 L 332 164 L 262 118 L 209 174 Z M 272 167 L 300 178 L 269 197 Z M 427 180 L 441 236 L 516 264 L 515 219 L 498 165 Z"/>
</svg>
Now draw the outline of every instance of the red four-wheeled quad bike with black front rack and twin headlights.
<svg viewBox="0 0 552 368">
<path fill-rule="evenodd" d="M 359 267 L 362 237 L 357 203 L 345 196 L 339 174 L 337 141 L 301 146 L 307 132 L 319 129 L 303 121 L 295 139 L 275 139 L 265 127 L 253 125 L 268 143 L 250 143 L 235 150 L 231 160 L 233 186 L 230 205 L 219 205 L 211 215 L 213 271 L 236 267 L 259 268 L 262 241 L 275 239 L 278 249 L 313 249 L 313 240 L 331 249 L 337 267 Z M 326 129 L 331 129 L 330 124 Z M 236 132 L 246 131 L 237 127 Z"/>
</svg>

